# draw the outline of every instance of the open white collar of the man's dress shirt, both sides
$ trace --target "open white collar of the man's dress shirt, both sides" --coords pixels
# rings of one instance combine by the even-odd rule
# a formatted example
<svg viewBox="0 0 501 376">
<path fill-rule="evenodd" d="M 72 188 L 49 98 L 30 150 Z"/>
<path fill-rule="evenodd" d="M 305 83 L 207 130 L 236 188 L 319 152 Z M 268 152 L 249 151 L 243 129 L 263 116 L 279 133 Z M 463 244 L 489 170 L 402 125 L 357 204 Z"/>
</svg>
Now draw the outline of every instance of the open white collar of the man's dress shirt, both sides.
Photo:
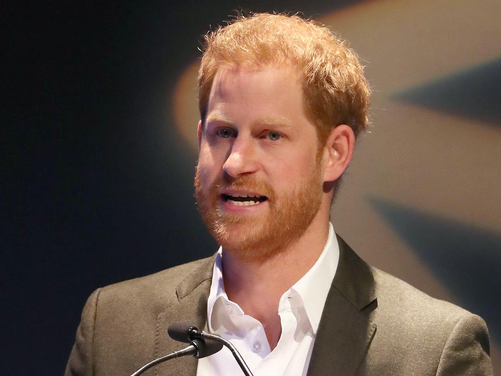
<svg viewBox="0 0 501 376">
<path fill-rule="evenodd" d="M 324 304 L 331 288 L 332 280 L 336 274 L 338 262 L 339 245 L 332 223 L 329 223 L 329 237 L 327 238 L 327 243 L 318 260 L 312 268 L 282 296 L 282 298 L 284 298 L 284 296 L 290 294 L 299 295 L 314 334 L 317 334 L 320 318 L 324 310 Z M 213 332 L 211 325 L 212 312 L 214 304 L 219 298 L 225 302 L 229 302 L 226 291 L 224 290 L 222 278 L 222 247 L 219 247 L 216 254 L 212 271 L 212 282 L 210 285 L 209 297 L 207 299 L 207 325 L 209 332 Z"/>
</svg>

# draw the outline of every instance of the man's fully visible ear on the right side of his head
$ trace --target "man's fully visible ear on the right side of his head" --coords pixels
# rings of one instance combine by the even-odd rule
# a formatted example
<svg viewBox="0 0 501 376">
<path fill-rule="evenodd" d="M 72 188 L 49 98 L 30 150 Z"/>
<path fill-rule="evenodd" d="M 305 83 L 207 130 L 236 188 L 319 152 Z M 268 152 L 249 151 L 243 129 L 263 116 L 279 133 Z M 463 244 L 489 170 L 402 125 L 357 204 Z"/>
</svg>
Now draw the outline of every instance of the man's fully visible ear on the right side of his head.
<svg viewBox="0 0 501 376">
<path fill-rule="evenodd" d="M 334 181 L 351 161 L 355 148 L 355 133 L 346 124 L 331 130 L 324 146 L 324 181 Z"/>
</svg>

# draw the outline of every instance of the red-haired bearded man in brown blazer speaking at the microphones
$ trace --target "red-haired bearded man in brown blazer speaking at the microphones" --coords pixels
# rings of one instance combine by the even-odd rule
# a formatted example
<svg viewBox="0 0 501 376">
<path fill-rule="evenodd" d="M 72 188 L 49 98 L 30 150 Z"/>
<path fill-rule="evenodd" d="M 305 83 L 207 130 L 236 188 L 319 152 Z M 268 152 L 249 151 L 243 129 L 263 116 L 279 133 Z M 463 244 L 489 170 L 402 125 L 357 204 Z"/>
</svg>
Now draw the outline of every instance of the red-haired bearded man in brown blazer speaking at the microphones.
<svg viewBox="0 0 501 376">
<path fill-rule="evenodd" d="M 370 89 L 356 54 L 299 17 L 239 18 L 206 38 L 199 72 L 202 218 L 215 257 L 89 298 L 66 374 L 128 375 L 180 348 L 183 320 L 258 375 L 492 374 L 484 322 L 372 268 L 330 208 Z M 228 350 L 154 374 L 240 374 Z"/>
</svg>

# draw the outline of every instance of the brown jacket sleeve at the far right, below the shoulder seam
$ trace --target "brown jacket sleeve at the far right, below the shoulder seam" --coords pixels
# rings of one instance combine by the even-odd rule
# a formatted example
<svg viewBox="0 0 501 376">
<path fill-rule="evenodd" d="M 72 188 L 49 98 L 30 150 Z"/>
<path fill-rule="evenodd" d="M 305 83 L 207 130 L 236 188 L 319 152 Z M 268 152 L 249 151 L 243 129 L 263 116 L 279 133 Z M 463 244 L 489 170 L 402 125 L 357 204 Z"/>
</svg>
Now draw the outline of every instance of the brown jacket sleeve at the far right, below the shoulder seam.
<svg viewBox="0 0 501 376">
<path fill-rule="evenodd" d="M 489 336 L 476 315 L 462 316 L 450 332 L 438 363 L 437 376 L 492 376 Z"/>
</svg>

